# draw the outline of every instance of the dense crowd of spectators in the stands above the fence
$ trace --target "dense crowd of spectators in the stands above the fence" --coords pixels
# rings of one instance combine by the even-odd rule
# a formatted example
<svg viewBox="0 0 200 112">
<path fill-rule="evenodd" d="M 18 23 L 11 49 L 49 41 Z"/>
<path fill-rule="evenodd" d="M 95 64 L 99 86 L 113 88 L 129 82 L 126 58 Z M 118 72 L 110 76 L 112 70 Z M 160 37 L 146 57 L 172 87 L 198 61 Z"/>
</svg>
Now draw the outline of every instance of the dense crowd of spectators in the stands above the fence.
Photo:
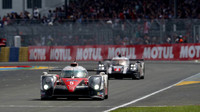
<svg viewBox="0 0 200 112">
<path fill-rule="evenodd" d="M 73 0 L 69 6 L 57 7 L 47 14 L 39 15 L 25 11 L 3 16 L 2 21 L 9 19 L 38 19 L 45 21 L 61 21 L 72 19 L 83 20 L 114 20 L 114 19 L 200 19 L 199 0 L 177 0 L 177 16 L 174 12 L 174 0 Z M 36 14 L 35 14 L 36 13 Z M 35 16 L 36 15 L 36 16 Z"/>
</svg>

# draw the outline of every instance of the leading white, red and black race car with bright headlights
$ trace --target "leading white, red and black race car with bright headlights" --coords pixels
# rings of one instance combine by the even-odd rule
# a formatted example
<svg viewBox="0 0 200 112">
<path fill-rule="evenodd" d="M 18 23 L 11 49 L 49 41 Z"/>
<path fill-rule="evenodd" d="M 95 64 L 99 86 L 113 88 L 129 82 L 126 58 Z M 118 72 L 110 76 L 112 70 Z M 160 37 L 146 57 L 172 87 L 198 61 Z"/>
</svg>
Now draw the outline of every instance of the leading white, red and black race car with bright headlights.
<svg viewBox="0 0 200 112">
<path fill-rule="evenodd" d="M 108 76 L 104 72 L 88 75 L 87 70 L 76 62 L 62 70 L 49 70 L 60 74 L 44 72 L 41 76 L 41 100 L 64 97 L 74 98 L 108 98 Z"/>
</svg>

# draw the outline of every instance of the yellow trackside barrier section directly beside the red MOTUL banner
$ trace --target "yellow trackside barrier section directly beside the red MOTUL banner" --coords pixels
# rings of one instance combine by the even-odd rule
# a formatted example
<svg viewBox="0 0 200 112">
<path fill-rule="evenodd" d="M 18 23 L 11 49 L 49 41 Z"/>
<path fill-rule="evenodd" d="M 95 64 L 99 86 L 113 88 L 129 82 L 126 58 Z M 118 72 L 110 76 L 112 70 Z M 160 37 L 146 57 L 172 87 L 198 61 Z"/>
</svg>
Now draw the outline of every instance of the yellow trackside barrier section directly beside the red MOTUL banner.
<svg viewBox="0 0 200 112">
<path fill-rule="evenodd" d="M 28 47 L 19 48 L 19 62 L 28 61 Z"/>
</svg>

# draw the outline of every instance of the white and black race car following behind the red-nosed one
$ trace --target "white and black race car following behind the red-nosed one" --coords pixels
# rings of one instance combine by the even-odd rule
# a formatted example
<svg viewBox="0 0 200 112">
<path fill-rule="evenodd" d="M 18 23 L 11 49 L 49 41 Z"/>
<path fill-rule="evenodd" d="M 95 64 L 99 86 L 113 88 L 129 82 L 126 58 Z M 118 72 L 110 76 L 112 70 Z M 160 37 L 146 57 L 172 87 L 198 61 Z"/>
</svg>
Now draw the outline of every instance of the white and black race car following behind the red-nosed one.
<svg viewBox="0 0 200 112">
<path fill-rule="evenodd" d="M 143 59 L 128 59 L 119 55 L 113 59 L 99 62 L 98 71 L 108 74 L 108 78 L 144 79 L 145 65 Z"/>
</svg>

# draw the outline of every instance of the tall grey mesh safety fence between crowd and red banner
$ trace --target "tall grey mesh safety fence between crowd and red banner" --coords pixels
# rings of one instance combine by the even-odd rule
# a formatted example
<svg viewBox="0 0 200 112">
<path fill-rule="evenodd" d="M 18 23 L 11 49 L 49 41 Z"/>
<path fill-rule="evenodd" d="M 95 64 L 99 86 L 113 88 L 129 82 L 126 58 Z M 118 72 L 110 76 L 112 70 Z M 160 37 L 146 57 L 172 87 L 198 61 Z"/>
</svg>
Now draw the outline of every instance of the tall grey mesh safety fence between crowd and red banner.
<svg viewBox="0 0 200 112">
<path fill-rule="evenodd" d="M 7 46 L 16 35 L 22 46 L 173 44 L 178 35 L 198 43 L 200 20 L 10 20 L 0 28 Z"/>
</svg>

